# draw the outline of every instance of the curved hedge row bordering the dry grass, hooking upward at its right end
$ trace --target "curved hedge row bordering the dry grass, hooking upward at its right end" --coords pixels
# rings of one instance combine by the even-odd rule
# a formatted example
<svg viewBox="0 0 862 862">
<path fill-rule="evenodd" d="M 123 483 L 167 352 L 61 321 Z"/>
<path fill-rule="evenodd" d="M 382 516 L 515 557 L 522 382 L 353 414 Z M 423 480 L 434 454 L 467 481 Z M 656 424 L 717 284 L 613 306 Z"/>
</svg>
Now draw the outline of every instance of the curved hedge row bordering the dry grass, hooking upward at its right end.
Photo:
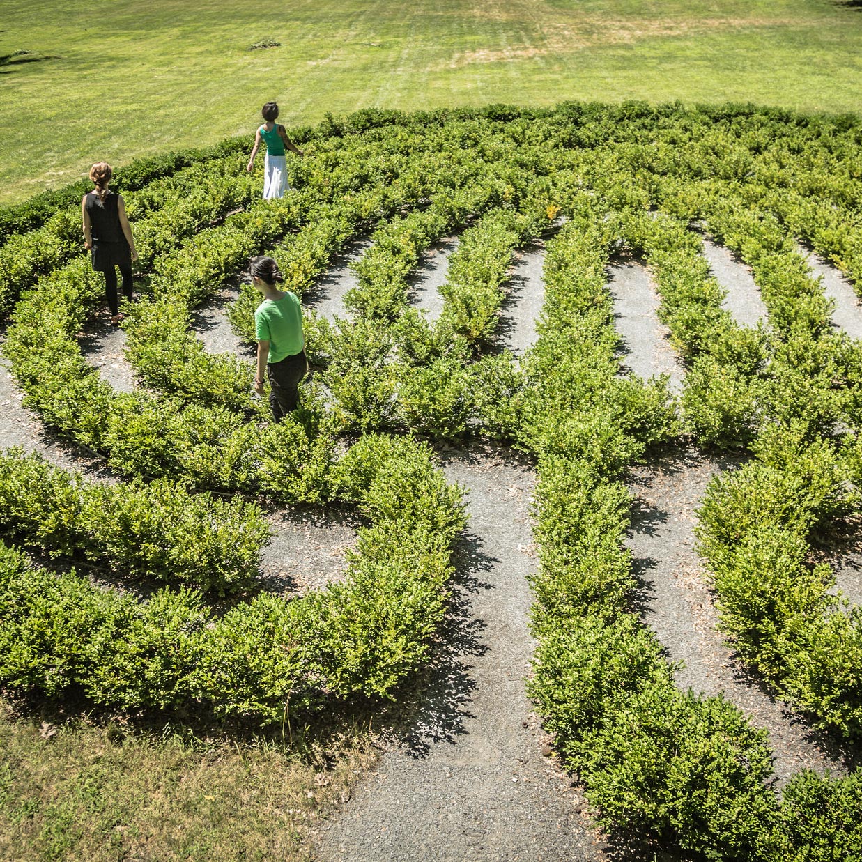
<svg viewBox="0 0 862 862">
<path fill-rule="evenodd" d="M 366 437 L 337 465 L 359 531 L 347 580 L 285 601 L 263 594 L 215 615 L 192 590 L 146 603 L 55 576 L 0 545 L 0 681 L 81 690 L 111 709 L 170 709 L 269 724 L 333 698 L 391 697 L 420 665 L 445 608 L 460 492 L 427 447 Z"/>
</svg>

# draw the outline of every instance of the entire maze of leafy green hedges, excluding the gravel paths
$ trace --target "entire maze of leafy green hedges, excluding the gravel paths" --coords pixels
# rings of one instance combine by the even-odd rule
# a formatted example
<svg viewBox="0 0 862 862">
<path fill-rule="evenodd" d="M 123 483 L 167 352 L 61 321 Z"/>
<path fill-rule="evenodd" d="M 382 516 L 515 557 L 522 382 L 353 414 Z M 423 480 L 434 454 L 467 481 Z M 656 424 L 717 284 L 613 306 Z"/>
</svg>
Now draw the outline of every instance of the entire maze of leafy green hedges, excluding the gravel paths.
<svg viewBox="0 0 862 862">
<path fill-rule="evenodd" d="M 862 290 L 862 126 L 751 106 L 565 103 L 296 130 L 295 191 L 259 201 L 242 141 L 118 172 L 141 256 L 119 392 L 82 355 L 101 300 L 81 189 L 0 213 L 3 352 L 26 404 L 120 478 L 0 459 L 0 682 L 110 709 L 282 721 L 396 698 L 447 607 L 462 490 L 431 444 L 497 440 L 538 476 L 528 682 L 566 767 L 610 830 L 712 859 L 862 858 L 862 773 L 798 773 L 777 794 L 765 731 L 723 697 L 678 690 L 632 603 L 628 468 L 669 448 L 744 455 L 698 511 L 721 631 L 771 692 L 858 752 L 862 615 L 818 554 L 858 529 L 862 345 L 831 322 L 803 243 Z M 459 235 L 429 322 L 422 253 Z M 704 234 L 751 267 L 767 319 L 743 325 Z M 358 237 L 349 314 L 309 311 L 312 374 L 281 424 L 246 359 L 214 355 L 193 310 L 269 253 L 303 297 Z M 545 303 L 523 356 L 500 345 L 515 255 L 544 236 Z M 684 363 L 621 373 L 607 270 L 640 260 Z M 253 340 L 257 294 L 228 310 Z M 303 597 L 256 583 L 260 503 L 354 507 L 347 578 Z M 26 555 L 158 581 L 147 600 Z"/>
</svg>

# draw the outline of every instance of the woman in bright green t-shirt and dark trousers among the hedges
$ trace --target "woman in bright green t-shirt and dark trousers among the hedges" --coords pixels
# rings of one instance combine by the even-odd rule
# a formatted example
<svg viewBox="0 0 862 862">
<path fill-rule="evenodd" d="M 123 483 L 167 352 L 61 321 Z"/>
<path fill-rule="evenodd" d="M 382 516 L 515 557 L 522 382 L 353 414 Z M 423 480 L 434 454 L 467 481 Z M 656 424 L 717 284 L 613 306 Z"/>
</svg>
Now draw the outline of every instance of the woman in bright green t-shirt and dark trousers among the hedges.
<svg viewBox="0 0 862 862">
<path fill-rule="evenodd" d="M 309 370 L 303 338 L 303 307 L 290 290 L 278 290 L 284 281 L 278 264 L 272 258 L 252 261 L 252 283 L 264 300 L 254 312 L 254 330 L 258 340 L 257 372 L 254 391 L 264 394 L 264 369 L 270 384 L 272 417 L 281 422 L 297 409 L 299 382 Z"/>
</svg>

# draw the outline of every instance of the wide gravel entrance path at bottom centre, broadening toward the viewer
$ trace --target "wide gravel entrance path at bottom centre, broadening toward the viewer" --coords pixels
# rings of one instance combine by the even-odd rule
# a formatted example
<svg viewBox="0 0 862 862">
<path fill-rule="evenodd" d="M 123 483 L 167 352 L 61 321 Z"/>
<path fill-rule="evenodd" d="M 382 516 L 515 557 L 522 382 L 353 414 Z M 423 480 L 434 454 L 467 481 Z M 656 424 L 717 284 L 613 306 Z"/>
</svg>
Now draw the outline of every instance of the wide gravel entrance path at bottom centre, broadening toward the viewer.
<svg viewBox="0 0 862 862">
<path fill-rule="evenodd" d="M 444 459 L 468 489 L 471 533 L 440 645 L 409 728 L 391 732 L 375 771 L 322 825 L 316 858 L 603 859 L 583 797 L 542 755 L 524 690 L 533 474 L 496 453 Z"/>
</svg>

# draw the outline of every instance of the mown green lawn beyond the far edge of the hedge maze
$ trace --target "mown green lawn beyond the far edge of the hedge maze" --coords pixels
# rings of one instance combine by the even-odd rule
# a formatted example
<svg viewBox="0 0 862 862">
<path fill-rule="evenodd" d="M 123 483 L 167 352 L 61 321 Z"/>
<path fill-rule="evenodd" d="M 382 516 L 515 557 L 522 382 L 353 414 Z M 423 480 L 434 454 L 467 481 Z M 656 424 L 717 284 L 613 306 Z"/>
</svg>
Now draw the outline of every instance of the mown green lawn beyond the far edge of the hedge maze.
<svg viewBox="0 0 862 862">
<path fill-rule="evenodd" d="M 858 108 L 862 9 L 836 0 L 3 0 L 0 203 L 93 161 L 327 111 L 564 99 Z M 255 42 L 280 47 L 250 50 Z M 28 51 L 9 57 L 18 51 Z"/>
</svg>

